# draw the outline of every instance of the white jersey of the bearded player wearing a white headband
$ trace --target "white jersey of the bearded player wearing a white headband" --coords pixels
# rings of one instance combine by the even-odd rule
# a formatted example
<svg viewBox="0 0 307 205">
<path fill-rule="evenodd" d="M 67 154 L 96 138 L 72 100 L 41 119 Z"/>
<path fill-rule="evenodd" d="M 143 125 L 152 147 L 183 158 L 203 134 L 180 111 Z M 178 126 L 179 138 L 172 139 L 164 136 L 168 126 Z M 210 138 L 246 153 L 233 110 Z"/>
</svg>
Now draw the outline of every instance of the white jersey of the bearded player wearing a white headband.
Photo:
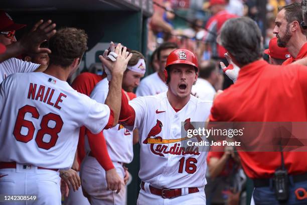
<svg viewBox="0 0 307 205">
<path fill-rule="evenodd" d="M 97 102 L 104 103 L 109 90 L 109 81 L 104 78 L 96 84 L 90 97 Z M 103 135 L 107 144 L 108 153 L 113 162 L 130 163 L 133 159 L 133 135 L 122 125 L 103 130 Z M 86 143 L 86 151 L 90 150 Z"/>
</svg>

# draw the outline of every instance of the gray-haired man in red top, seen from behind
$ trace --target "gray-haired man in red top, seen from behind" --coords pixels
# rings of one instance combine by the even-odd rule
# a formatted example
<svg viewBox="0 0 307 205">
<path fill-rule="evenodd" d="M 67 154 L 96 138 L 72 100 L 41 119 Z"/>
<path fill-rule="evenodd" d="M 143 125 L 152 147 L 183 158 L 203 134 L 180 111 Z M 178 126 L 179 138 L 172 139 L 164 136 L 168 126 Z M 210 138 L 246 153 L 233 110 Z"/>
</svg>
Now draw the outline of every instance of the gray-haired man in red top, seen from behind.
<svg viewBox="0 0 307 205">
<path fill-rule="evenodd" d="M 260 29 L 248 18 L 230 19 L 222 27 L 221 43 L 241 70 L 236 83 L 216 97 L 210 122 L 307 121 L 307 67 L 268 64 L 261 58 L 261 38 Z M 266 133 L 260 140 L 269 137 Z M 254 180 L 256 204 L 281 202 L 276 198 L 273 180 L 281 161 L 288 174 L 285 181 L 290 181 L 284 183 L 288 191 L 282 189 L 287 194 L 283 202 L 306 204 L 307 198 L 298 200 L 295 190 L 307 189 L 307 152 L 283 152 L 283 159 L 280 152 L 238 153 L 245 173 Z"/>
</svg>

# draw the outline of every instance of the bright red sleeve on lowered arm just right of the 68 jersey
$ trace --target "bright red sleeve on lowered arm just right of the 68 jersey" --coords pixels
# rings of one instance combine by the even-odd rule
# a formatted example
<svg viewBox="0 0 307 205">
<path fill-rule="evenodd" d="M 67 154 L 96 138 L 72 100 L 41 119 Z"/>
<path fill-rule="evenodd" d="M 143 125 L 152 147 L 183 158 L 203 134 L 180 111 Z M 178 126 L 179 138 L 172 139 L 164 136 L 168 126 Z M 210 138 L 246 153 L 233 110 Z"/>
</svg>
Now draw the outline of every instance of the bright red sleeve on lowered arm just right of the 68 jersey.
<svg viewBox="0 0 307 205">
<path fill-rule="evenodd" d="M 97 159 L 97 161 L 102 166 L 102 168 L 105 171 L 113 169 L 114 165 L 109 156 L 103 133 L 100 132 L 98 134 L 93 134 L 88 129 L 86 129 L 85 132 L 86 132 L 88 143 L 93 153 L 93 156 Z"/>
</svg>

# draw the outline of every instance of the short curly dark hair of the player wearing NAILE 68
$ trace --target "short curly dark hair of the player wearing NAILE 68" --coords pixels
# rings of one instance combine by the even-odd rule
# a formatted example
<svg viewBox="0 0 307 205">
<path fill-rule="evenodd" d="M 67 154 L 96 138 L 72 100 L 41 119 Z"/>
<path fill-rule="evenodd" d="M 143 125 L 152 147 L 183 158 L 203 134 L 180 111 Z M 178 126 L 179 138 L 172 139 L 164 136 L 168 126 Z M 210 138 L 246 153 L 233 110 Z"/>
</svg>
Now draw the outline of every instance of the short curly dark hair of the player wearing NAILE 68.
<svg viewBox="0 0 307 205">
<path fill-rule="evenodd" d="M 62 28 L 49 40 L 50 64 L 67 67 L 87 50 L 87 34 L 82 29 Z"/>
</svg>

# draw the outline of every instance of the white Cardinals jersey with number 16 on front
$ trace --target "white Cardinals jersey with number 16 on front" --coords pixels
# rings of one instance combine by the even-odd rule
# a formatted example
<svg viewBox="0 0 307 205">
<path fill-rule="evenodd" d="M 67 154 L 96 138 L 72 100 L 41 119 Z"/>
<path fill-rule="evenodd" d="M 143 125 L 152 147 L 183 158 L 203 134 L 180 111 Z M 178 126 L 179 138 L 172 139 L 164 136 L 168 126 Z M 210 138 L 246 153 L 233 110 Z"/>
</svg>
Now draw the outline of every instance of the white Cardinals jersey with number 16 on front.
<svg viewBox="0 0 307 205">
<path fill-rule="evenodd" d="M 205 122 L 212 102 L 191 95 L 187 105 L 176 113 L 170 105 L 167 92 L 163 92 L 136 97 L 129 101 L 129 105 L 135 111 L 134 128 L 138 128 L 140 136 L 140 179 L 155 187 L 204 186 L 207 152 L 192 146 L 181 148 L 182 138 L 187 133 L 183 129 L 182 136 L 181 131 L 182 122 Z M 147 140 L 148 144 L 145 144 L 147 137 L 161 137 L 167 142 L 150 144 Z M 168 142 L 169 139 L 178 139 L 178 142 Z"/>
</svg>

